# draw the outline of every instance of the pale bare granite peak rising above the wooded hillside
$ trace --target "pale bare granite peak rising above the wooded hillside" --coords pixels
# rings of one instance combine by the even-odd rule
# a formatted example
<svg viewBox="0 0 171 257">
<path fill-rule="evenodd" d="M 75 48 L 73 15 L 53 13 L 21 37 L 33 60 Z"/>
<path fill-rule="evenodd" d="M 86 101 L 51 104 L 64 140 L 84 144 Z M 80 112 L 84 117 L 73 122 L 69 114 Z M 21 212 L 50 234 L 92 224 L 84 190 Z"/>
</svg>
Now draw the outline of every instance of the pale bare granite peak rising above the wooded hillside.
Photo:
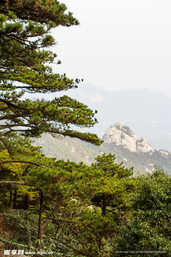
<svg viewBox="0 0 171 257">
<path fill-rule="evenodd" d="M 138 140 L 130 128 L 124 126 L 122 122 L 108 127 L 105 130 L 103 140 L 107 144 L 115 143 L 116 145 L 122 145 L 131 152 L 150 152 L 153 150 L 144 137 Z"/>
</svg>

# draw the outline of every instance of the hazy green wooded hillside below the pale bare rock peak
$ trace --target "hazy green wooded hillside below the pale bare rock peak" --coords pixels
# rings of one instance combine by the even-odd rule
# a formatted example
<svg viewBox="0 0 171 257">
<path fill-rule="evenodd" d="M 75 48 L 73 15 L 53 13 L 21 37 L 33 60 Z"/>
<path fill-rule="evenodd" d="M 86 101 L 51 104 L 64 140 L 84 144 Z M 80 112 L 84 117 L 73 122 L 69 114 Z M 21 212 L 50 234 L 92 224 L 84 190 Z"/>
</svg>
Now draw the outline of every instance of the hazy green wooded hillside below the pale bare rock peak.
<svg viewBox="0 0 171 257">
<path fill-rule="evenodd" d="M 130 131 L 129 127 L 127 127 L 127 130 Z M 105 135 L 103 139 L 105 138 Z M 120 136 L 123 138 L 123 135 Z M 136 137 L 135 134 L 132 136 Z M 139 144 L 142 142 L 144 141 L 138 141 Z M 140 151 L 130 151 L 125 144 L 121 145 L 117 142 L 104 142 L 101 146 L 94 146 L 81 140 L 69 137 L 65 137 L 64 139 L 55 139 L 48 134 L 43 134 L 41 138 L 35 139 L 33 144 L 36 146 L 42 146 L 43 153 L 47 157 L 56 157 L 57 160 L 69 159 L 70 161 L 74 161 L 76 163 L 83 161 L 85 164 L 90 165 L 92 162 L 95 162 L 95 157 L 97 157 L 97 155 L 102 153 L 112 153 L 115 154 L 115 161 L 117 163 L 123 161 L 123 165 L 127 168 L 134 166 L 136 176 L 138 175 L 138 172 L 151 172 L 154 164 L 158 167 L 163 166 L 164 170 L 171 174 L 170 152 L 152 149 L 151 147 L 148 147 L 148 152 L 144 151 L 142 147 L 138 148 Z M 146 142 L 143 147 L 146 149 L 147 145 L 148 143 Z"/>
</svg>

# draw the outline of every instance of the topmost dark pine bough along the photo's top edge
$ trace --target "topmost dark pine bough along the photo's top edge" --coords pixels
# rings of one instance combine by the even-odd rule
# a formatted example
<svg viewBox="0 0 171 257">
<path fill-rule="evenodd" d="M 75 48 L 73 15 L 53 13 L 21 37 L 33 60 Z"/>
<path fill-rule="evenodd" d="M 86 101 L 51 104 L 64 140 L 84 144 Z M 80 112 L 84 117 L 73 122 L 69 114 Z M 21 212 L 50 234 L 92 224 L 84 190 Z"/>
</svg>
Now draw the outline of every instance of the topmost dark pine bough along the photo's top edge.
<svg viewBox="0 0 171 257">
<path fill-rule="evenodd" d="M 47 24 L 53 21 L 56 26 L 72 26 L 78 25 L 79 22 L 72 16 L 71 12 L 65 14 L 67 6 L 64 3 L 53 0 L 43 1 L 7 1 L 1 4 L 0 12 L 7 15 L 9 11 L 15 12 L 18 19 L 28 21 L 32 20 L 39 23 Z M 12 19 L 12 18 L 11 18 Z"/>
</svg>

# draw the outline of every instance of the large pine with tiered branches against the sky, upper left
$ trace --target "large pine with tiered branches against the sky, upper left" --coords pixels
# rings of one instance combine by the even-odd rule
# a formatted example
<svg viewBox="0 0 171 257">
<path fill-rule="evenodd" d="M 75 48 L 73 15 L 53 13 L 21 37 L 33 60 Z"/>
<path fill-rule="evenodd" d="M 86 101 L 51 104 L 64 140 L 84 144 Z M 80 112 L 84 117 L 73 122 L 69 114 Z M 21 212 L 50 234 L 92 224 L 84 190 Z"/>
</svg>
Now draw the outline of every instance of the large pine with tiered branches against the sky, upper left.
<svg viewBox="0 0 171 257">
<path fill-rule="evenodd" d="M 67 96 L 21 100 L 24 92 L 51 93 L 76 88 L 81 81 L 54 74 L 48 65 L 56 54 L 47 50 L 56 44 L 50 35 L 59 25 L 78 25 L 67 7 L 58 1 L 3 1 L 0 7 L 0 113 L 1 142 L 12 137 L 11 132 L 22 136 L 39 137 L 50 133 L 54 137 L 77 137 L 100 145 L 95 134 L 69 130 L 69 124 L 91 127 L 97 123 L 86 105 Z M 57 64 L 61 61 L 58 60 Z M 20 82 L 20 84 L 16 84 Z M 15 89 L 22 89 L 19 93 Z M 6 91 L 4 91 L 6 90 Z M 5 121 L 5 122 L 4 122 Z M 22 126 L 22 127 L 21 127 Z"/>
</svg>

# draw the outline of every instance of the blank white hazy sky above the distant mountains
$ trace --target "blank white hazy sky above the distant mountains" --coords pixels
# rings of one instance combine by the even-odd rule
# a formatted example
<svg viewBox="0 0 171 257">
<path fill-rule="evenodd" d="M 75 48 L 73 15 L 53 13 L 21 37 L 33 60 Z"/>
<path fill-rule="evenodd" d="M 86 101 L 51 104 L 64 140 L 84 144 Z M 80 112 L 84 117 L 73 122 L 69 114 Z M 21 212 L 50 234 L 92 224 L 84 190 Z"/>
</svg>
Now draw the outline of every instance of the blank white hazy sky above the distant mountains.
<svg viewBox="0 0 171 257">
<path fill-rule="evenodd" d="M 80 26 L 58 27 L 57 73 L 107 90 L 148 88 L 171 97 L 171 1 L 64 0 Z"/>
</svg>

